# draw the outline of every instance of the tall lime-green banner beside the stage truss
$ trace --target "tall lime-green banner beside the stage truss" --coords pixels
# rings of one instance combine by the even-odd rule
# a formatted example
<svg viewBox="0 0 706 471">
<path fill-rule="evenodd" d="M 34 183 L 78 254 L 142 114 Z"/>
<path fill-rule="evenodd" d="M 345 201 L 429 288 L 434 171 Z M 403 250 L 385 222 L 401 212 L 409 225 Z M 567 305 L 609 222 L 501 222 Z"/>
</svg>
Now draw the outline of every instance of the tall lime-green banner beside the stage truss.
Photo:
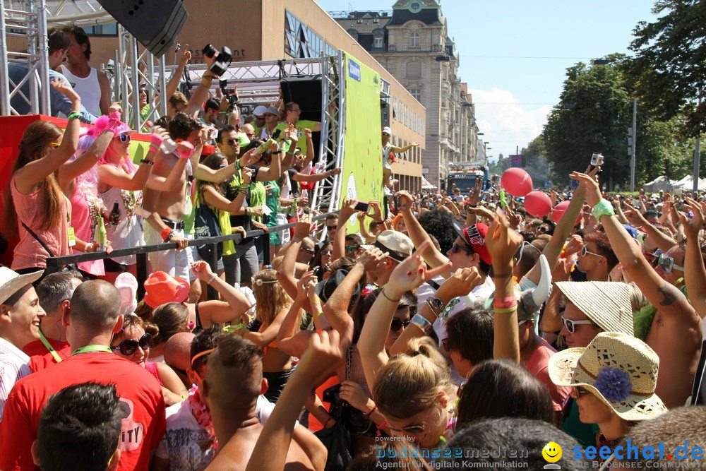
<svg viewBox="0 0 706 471">
<path fill-rule="evenodd" d="M 345 54 L 346 141 L 340 201 L 347 196 L 383 205 L 381 83 L 380 74 Z M 349 225 L 357 225 L 355 217 Z"/>
</svg>

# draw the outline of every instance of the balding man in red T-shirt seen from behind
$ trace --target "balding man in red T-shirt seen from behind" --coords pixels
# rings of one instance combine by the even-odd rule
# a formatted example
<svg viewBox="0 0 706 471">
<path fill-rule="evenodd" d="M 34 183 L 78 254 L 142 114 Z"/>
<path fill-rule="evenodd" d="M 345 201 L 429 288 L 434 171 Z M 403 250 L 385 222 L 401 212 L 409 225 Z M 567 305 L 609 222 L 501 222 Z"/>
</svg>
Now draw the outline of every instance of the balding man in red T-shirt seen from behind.
<svg viewBox="0 0 706 471">
<path fill-rule="evenodd" d="M 120 293 L 102 280 L 84 282 L 71 297 L 62 319 L 73 354 L 51 368 L 15 384 L 0 422 L 0 469 L 34 470 L 30 451 L 40 414 L 49 396 L 86 381 L 114 384 L 122 410 L 118 470 L 148 470 L 152 450 L 166 422 L 164 398 L 146 369 L 113 354 L 110 340 L 122 328 Z"/>
</svg>

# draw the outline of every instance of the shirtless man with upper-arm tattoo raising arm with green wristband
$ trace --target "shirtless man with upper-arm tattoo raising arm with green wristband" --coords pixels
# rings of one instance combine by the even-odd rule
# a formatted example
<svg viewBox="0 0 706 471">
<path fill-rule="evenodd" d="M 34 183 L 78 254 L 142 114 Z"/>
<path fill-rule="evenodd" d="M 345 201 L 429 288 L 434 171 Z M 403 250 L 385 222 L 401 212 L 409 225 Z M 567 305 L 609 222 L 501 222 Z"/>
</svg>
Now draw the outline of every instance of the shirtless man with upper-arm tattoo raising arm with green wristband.
<svg viewBox="0 0 706 471">
<path fill-rule="evenodd" d="M 659 376 L 656 393 L 664 405 L 670 409 L 686 403 L 691 393 L 701 350 L 701 318 L 696 314 L 686 296 L 674 286 L 673 270 L 666 273 L 664 268 L 652 268 L 650 262 L 635 244 L 630 234 L 613 214 L 610 203 L 603 202 L 597 181 L 586 174 L 574 172 L 570 176 L 586 185 L 586 201 L 594 207 L 599 203 L 606 206 L 597 219 L 603 225 L 611 246 L 622 263 L 626 273 L 647 297 L 657 314 L 652 320 L 650 333 L 645 342 L 659 355 Z M 595 214 L 595 213 L 594 213 Z M 679 257 L 678 247 L 674 248 L 674 264 L 683 263 L 683 251 Z"/>
</svg>

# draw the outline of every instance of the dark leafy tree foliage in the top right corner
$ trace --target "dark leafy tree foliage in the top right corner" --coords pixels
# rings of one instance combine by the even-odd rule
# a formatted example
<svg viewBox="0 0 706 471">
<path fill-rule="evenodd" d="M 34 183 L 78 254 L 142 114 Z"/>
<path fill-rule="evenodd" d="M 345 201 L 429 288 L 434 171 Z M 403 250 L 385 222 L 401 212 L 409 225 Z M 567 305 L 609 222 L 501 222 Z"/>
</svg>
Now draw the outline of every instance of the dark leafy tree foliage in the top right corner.
<svg viewBox="0 0 706 471">
<path fill-rule="evenodd" d="M 706 81 L 706 2 L 658 0 L 652 12 L 666 14 L 633 30 L 636 55 L 626 64 L 628 78 L 640 103 L 659 119 L 682 114 L 679 129 L 698 136 L 706 131 L 706 103 L 699 103 Z"/>
</svg>

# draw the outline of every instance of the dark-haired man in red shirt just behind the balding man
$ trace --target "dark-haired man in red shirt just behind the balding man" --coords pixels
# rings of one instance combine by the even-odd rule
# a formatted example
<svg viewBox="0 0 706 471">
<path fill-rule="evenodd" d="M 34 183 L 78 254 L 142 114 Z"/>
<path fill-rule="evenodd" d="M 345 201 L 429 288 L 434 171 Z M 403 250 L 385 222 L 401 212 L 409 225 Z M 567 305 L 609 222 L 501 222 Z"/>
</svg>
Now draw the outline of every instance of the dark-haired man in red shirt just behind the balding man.
<svg viewBox="0 0 706 471">
<path fill-rule="evenodd" d="M 83 282 L 77 271 L 57 272 L 47 275 L 37 285 L 37 296 L 47 316 L 42 318 L 40 338 L 23 347 L 30 356 L 30 369 L 40 371 L 49 365 L 59 363 L 71 356 L 61 318 L 71 309 L 73 290 Z"/>
</svg>

